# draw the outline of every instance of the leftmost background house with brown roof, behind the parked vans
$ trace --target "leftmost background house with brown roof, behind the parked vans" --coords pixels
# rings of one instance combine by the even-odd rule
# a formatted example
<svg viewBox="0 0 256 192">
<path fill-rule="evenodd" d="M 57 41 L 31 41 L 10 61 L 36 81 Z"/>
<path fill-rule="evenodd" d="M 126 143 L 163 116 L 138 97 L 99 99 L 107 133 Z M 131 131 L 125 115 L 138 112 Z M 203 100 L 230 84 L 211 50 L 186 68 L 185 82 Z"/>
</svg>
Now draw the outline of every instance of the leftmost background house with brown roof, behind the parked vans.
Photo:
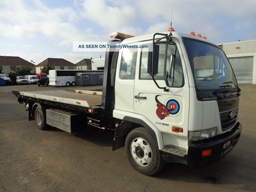
<svg viewBox="0 0 256 192">
<path fill-rule="evenodd" d="M 35 65 L 16 56 L 0 56 L 0 70 L 2 73 L 14 72 L 17 67 L 32 66 L 31 73 L 35 72 Z M 7 71 L 6 71 L 7 70 Z"/>
</svg>

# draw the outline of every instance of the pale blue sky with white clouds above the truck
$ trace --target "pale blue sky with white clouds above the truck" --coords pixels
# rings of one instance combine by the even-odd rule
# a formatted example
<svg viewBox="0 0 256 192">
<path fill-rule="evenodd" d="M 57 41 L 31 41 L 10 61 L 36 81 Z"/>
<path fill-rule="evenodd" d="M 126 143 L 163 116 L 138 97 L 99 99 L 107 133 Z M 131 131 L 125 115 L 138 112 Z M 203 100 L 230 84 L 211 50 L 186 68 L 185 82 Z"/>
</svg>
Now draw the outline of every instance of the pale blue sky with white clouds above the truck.
<svg viewBox="0 0 256 192">
<path fill-rule="evenodd" d="M 194 31 L 215 43 L 256 39 L 256 0 L 0 0 L 0 55 L 38 64 L 78 62 L 73 41 L 108 41 L 111 32 L 142 35 Z M 104 57 L 104 54 L 102 55 Z"/>
</svg>

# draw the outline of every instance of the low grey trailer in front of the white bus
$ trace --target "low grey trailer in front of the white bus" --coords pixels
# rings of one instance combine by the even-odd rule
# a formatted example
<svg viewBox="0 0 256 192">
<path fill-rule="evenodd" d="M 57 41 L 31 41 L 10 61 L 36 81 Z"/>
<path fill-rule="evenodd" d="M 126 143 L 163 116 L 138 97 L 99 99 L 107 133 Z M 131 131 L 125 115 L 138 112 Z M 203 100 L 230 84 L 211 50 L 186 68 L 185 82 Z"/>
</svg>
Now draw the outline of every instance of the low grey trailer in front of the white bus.
<svg viewBox="0 0 256 192">
<path fill-rule="evenodd" d="M 76 85 L 102 85 L 104 73 L 76 73 Z"/>
</svg>

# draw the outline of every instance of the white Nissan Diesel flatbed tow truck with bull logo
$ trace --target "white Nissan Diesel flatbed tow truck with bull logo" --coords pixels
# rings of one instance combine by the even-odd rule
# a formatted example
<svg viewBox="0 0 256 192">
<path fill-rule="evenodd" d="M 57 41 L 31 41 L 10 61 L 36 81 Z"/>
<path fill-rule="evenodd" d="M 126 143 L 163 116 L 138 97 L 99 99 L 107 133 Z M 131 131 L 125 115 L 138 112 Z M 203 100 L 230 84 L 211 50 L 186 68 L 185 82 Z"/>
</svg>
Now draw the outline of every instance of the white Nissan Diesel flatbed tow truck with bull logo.
<svg viewBox="0 0 256 192">
<path fill-rule="evenodd" d="M 220 47 L 173 29 L 110 36 L 112 45 L 149 46 L 106 48 L 102 92 L 13 91 L 29 120 L 40 130 L 114 132 L 112 149 L 124 146 L 130 164 L 145 175 L 166 162 L 206 166 L 234 148 L 242 129 L 241 90 Z"/>
</svg>

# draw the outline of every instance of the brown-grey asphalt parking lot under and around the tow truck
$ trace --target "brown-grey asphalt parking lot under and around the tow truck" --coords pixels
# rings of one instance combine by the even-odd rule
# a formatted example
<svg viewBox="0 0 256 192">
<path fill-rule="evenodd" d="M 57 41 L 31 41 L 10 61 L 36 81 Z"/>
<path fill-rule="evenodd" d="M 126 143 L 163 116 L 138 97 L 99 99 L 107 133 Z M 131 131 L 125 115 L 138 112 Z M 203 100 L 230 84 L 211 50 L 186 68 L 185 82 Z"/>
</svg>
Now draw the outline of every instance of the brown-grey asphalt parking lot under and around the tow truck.
<svg viewBox="0 0 256 192">
<path fill-rule="evenodd" d="M 86 130 L 70 135 L 42 131 L 28 121 L 12 90 L 95 90 L 88 87 L 0 87 L 0 192 L 4 191 L 255 191 L 256 86 L 241 85 L 241 138 L 225 158 L 205 168 L 166 164 L 144 176 L 129 164 L 124 148 L 112 152 L 113 134 Z"/>
</svg>

